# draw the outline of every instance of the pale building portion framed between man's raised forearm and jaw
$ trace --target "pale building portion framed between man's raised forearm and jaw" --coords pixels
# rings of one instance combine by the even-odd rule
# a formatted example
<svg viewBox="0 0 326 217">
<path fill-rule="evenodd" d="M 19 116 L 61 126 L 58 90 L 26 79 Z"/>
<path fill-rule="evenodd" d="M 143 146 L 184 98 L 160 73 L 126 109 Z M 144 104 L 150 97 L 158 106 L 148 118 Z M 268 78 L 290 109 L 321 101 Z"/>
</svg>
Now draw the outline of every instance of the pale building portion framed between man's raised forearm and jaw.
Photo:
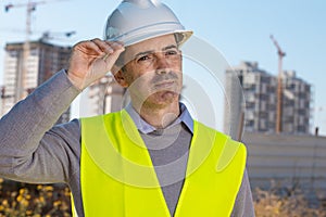
<svg viewBox="0 0 326 217">
<path fill-rule="evenodd" d="M 99 79 L 88 88 L 88 116 L 116 112 L 124 107 L 125 89 L 122 88 L 112 75 Z"/>
</svg>

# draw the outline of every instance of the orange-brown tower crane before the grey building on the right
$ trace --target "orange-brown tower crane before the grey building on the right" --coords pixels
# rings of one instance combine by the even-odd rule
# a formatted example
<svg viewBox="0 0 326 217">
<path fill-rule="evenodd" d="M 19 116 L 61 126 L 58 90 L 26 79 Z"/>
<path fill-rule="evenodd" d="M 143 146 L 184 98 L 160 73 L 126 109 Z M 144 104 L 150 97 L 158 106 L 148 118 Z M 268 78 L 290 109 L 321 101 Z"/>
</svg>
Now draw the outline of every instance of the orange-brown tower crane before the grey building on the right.
<svg viewBox="0 0 326 217">
<path fill-rule="evenodd" d="M 278 42 L 275 40 L 273 35 L 271 35 L 271 39 L 274 42 L 274 46 L 277 49 L 278 55 L 278 76 L 277 76 L 277 110 L 276 110 L 276 125 L 275 132 L 281 132 L 281 117 L 283 117 L 283 58 L 286 53 L 281 50 Z"/>
</svg>

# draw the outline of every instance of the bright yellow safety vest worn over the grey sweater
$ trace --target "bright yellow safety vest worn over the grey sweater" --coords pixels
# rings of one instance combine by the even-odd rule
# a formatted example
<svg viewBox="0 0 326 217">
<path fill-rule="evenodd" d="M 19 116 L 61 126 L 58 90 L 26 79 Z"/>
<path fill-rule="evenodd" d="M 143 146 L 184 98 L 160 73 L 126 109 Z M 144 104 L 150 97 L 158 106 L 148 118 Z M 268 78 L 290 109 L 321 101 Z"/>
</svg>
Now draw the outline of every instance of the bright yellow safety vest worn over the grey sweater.
<svg viewBox="0 0 326 217">
<path fill-rule="evenodd" d="M 230 216 L 246 146 L 198 122 L 176 217 Z M 150 154 L 123 110 L 82 119 L 80 186 L 86 217 L 170 217 Z"/>
</svg>

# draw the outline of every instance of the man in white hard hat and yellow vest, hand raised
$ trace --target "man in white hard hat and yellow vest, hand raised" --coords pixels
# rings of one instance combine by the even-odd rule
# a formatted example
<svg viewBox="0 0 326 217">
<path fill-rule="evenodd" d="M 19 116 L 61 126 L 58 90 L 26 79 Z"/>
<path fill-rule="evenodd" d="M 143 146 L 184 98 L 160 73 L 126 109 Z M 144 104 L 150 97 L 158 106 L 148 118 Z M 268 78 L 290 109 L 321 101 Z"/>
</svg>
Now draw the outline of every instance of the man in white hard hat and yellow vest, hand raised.
<svg viewBox="0 0 326 217">
<path fill-rule="evenodd" d="M 179 103 L 179 46 L 190 35 L 164 4 L 123 1 L 105 41 L 77 43 L 68 69 L 1 119 L 1 176 L 66 182 L 76 216 L 254 216 L 246 148 Z M 131 103 L 52 127 L 109 71 Z"/>
</svg>

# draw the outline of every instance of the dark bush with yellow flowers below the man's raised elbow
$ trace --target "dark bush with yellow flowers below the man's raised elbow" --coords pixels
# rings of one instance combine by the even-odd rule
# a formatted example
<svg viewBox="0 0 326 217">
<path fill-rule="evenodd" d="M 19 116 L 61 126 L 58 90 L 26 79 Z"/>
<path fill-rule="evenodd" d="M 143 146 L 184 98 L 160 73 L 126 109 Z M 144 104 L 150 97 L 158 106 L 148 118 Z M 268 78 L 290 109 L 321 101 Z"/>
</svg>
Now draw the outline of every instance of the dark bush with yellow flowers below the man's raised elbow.
<svg viewBox="0 0 326 217">
<path fill-rule="evenodd" d="M 0 179 L 0 217 L 70 217 L 70 194 L 63 184 L 26 184 Z"/>
</svg>

